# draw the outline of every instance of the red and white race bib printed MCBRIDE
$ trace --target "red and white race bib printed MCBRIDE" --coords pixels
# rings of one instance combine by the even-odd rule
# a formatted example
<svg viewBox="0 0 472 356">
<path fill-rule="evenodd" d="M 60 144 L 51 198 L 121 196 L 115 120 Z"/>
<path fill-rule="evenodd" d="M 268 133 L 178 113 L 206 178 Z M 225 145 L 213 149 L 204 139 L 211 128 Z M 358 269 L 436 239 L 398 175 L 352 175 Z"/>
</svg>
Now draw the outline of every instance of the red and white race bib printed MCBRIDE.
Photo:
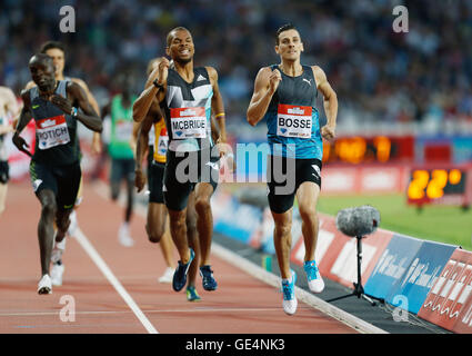
<svg viewBox="0 0 472 356">
<path fill-rule="evenodd" d="M 203 107 L 171 108 L 170 117 L 173 139 L 207 137 L 207 115 Z"/>
</svg>

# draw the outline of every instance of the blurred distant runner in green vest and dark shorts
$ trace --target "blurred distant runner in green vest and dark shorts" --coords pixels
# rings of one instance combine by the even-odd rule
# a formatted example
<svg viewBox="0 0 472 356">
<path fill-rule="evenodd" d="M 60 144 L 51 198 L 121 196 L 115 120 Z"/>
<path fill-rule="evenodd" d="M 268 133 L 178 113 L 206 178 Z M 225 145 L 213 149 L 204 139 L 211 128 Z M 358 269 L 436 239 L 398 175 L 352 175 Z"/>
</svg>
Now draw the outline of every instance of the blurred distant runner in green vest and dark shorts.
<svg viewBox="0 0 472 356">
<path fill-rule="evenodd" d="M 134 245 L 130 236 L 130 221 L 133 212 L 134 200 L 134 154 L 130 139 L 133 130 L 132 106 L 135 96 L 131 93 L 132 83 L 128 75 L 119 79 L 122 92 L 113 96 L 111 101 L 102 109 L 102 119 L 110 116 L 111 136 L 108 152 L 111 158 L 110 187 L 111 199 L 118 199 L 122 180 L 127 185 L 127 208 L 124 220 L 118 230 L 118 240 L 125 247 Z"/>
</svg>

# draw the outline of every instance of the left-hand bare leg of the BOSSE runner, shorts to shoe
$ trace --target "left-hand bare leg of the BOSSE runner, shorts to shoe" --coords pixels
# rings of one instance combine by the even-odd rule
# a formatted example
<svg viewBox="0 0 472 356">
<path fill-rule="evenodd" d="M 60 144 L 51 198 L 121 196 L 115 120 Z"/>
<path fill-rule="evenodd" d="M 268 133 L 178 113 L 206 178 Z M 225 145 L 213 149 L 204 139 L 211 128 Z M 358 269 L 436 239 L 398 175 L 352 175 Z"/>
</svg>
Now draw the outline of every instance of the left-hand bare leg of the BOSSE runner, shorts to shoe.
<svg viewBox="0 0 472 356">
<path fill-rule="evenodd" d="M 292 209 L 285 212 L 272 211 L 274 221 L 273 245 L 282 279 L 290 278 L 290 251 L 292 248 Z"/>
</svg>

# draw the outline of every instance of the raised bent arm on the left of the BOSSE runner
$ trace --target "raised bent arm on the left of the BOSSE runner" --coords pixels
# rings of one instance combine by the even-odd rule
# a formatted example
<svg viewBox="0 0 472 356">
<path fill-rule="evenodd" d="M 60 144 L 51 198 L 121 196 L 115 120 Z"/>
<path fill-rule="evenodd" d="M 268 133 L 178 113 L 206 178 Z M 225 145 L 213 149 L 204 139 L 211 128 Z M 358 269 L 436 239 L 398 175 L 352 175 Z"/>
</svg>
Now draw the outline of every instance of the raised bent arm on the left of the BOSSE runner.
<svg viewBox="0 0 472 356">
<path fill-rule="evenodd" d="M 282 76 L 278 69 L 272 71 L 269 67 L 264 67 L 259 70 L 254 81 L 254 92 L 247 112 L 250 125 L 255 126 L 262 120 L 281 80 Z"/>
</svg>

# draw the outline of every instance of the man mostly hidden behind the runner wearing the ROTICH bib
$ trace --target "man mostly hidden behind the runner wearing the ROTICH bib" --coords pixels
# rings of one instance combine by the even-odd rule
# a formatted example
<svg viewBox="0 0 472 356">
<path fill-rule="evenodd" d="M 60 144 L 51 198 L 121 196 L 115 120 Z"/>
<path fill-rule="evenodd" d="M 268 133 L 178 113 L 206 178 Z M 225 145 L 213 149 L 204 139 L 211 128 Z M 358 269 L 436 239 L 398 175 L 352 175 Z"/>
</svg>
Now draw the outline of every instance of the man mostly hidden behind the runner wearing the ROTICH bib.
<svg viewBox="0 0 472 356">
<path fill-rule="evenodd" d="M 80 87 L 82 87 L 82 89 L 84 90 L 84 92 L 87 95 L 88 101 L 90 102 L 92 108 L 96 110 L 96 112 L 98 115 L 100 115 L 99 105 L 98 105 L 96 98 L 93 97 L 93 95 L 91 93 L 91 91 L 89 90 L 89 87 L 87 86 L 87 83 L 82 79 L 71 78 L 71 77 L 64 76 L 64 73 L 63 73 L 64 67 L 66 67 L 66 48 L 64 48 L 64 46 L 61 42 L 47 41 L 47 42 L 41 44 L 40 52 L 48 55 L 49 57 L 52 58 L 52 62 L 54 65 L 56 80 L 73 81 L 73 82 L 78 83 Z M 34 82 L 30 81 L 27 85 L 26 89 L 30 89 L 34 86 L 36 86 Z M 96 152 L 96 154 L 100 154 L 100 151 L 101 151 L 100 134 L 98 134 L 98 132 L 93 132 L 92 151 Z M 69 230 L 68 230 L 68 235 L 70 235 L 70 236 L 74 236 L 76 230 L 78 228 L 76 210 L 79 208 L 79 205 L 82 201 L 82 184 L 83 184 L 83 177 L 80 179 L 80 187 L 79 187 L 79 192 L 77 195 L 74 209 L 72 210 L 72 212 L 70 215 L 71 222 L 70 222 Z M 64 265 L 62 263 L 62 254 L 66 249 L 66 243 L 67 243 L 67 238 L 62 239 L 61 243 L 57 241 L 53 249 L 52 249 L 51 279 L 52 279 L 53 286 L 61 286 L 62 285 L 62 275 L 64 273 Z"/>
</svg>

